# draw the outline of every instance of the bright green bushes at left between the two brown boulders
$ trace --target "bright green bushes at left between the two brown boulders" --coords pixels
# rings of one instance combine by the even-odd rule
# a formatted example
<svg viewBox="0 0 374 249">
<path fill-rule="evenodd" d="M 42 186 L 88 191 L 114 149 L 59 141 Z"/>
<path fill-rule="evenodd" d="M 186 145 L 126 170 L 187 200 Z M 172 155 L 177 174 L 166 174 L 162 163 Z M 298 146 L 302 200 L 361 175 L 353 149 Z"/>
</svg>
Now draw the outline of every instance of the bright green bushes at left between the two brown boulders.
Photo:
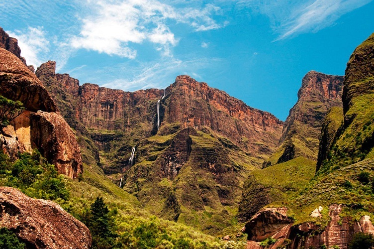
<svg viewBox="0 0 374 249">
<path fill-rule="evenodd" d="M 38 150 L 27 152 L 11 162 L 0 151 L 0 185 L 21 190 L 33 198 L 56 200 L 69 198 L 66 179 L 55 166 L 46 162 Z"/>
</svg>

